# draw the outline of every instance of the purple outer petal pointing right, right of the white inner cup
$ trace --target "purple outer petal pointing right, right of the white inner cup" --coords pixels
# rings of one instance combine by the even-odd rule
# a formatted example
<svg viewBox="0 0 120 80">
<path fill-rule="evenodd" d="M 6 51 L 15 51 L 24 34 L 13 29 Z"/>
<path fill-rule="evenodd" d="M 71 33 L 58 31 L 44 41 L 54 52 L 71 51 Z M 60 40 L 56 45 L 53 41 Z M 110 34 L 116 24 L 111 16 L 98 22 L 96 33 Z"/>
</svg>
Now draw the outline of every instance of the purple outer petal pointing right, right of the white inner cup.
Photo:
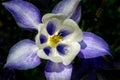
<svg viewBox="0 0 120 80">
<path fill-rule="evenodd" d="M 104 55 L 111 55 L 108 44 L 99 36 L 91 32 L 83 32 L 83 42 L 81 46 L 86 46 L 81 49 L 78 54 L 81 58 L 95 58 Z"/>
</svg>

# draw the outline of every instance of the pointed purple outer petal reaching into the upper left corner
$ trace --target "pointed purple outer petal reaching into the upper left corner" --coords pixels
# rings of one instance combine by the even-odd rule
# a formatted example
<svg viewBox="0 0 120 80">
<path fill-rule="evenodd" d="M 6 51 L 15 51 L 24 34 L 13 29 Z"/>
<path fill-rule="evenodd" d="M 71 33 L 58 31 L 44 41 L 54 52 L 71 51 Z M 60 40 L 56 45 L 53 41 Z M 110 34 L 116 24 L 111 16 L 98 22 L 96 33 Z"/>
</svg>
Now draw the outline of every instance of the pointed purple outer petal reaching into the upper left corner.
<svg viewBox="0 0 120 80">
<path fill-rule="evenodd" d="M 3 6 L 12 13 L 16 23 L 24 29 L 36 29 L 41 23 L 40 11 L 31 3 L 23 0 L 4 2 Z"/>
</svg>

